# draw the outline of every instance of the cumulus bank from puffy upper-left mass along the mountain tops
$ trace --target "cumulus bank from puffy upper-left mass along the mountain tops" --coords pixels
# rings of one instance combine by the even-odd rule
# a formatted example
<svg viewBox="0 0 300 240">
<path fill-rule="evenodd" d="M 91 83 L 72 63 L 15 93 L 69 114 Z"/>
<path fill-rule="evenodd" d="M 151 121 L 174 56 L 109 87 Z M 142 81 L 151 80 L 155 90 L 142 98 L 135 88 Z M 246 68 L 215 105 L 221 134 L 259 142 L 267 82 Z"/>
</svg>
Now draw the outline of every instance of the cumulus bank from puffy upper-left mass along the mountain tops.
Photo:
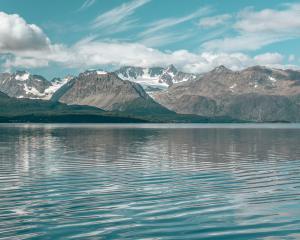
<svg viewBox="0 0 300 240">
<path fill-rule="evenodd" d="M 17 23 L 15 29 L 7 30 L 1 25 L 0 33 L 5 33 L 0 39 L 0 57 L 5 56 L 5 69 L 36 68 L 55 63 L 66 68 L 97 68 L 105 66 L 167 66 L 174 64 L 188 72 L 206 72 L 219 65 L 239 70 L 252 65 L 267 65 L 284 67 L 283 56 L 279 53 L 266 53 L 250 57 L 235 53 L 220 53 L 206 51 L 192 53 L 187 50 L 165 52 L 142 43 L 99 41 L 90 37 L 72 46 L 51 44 L 43 31 L 36 25 L 28 24 L 18 15 L 2 13 L 4 19 Z M 13 27 L 12 27 L 13 28 Z M 25 37 L 19 37 L 20 31 Z M 2 35 L 1 35 L 2 36 Z M 11 41 L 10 45 L 8 39 Z M 14 44 L 12 42 L 15 42 Z M 16 44 L 17 43 L 17 44 Z M 35 45 L 33 45 L 33 43 Z"/>
</svg>

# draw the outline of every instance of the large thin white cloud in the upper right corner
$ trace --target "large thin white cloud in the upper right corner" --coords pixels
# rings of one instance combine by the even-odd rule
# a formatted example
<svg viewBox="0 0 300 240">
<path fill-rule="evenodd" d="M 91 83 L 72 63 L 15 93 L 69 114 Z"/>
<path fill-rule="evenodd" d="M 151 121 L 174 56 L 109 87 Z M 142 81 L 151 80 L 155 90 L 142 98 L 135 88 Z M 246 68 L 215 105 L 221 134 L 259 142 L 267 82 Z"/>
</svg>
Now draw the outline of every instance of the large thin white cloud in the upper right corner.
<svg viewBox="0 0 300 240">
<path fill-rule="evenodd" d="M 300 4 L 284 5 L 281 10 L 245 9 L 232 26 L 235 36 L 202 44 L 208 51 L 257 50 L 263 46 L 300 37 Z"/>
</svg>

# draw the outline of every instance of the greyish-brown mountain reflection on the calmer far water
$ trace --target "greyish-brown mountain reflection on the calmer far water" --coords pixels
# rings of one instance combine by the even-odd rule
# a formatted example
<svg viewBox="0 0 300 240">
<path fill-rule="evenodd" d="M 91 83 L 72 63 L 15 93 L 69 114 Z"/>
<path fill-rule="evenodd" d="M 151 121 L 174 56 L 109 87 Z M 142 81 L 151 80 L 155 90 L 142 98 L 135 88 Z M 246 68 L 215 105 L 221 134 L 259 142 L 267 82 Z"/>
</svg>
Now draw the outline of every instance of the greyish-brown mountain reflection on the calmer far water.
<svg viewBox="0 0 300 240">
<path fill-rule="evenodd" d="M 7 134 L 5 134 L 7 132 Z M 1 128 L 1 167 L 45 171 L 65 161 L 147 169 L 213 169 L 243 161 L 299 159 L 295 129 L 136 129 L 78 127 Z M 9 159 L 13 159 L 10 161 Z M 151 170 L 151 169 L 150 169 Z"/>
</svg>

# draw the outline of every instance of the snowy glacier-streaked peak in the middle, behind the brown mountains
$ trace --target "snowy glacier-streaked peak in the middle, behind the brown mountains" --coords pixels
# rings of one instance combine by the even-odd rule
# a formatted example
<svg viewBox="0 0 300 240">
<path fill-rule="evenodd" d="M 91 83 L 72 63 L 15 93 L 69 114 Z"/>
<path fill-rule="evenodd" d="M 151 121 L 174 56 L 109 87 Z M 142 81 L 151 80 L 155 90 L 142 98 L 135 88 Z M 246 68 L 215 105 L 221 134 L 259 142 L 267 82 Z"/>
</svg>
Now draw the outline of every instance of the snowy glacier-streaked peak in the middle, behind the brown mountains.
<svg viewBox="0 0 300 240">
<path fill-rule="evenodd" d="M 167 68 L 152 67 L 121 67 L 115 74 L 123 80 L 139 83 L 147 92 L 167 89 L 174 83 L 188 81 L 196 78 L 196 74 L 178 71 L 173 65 Z"/>
</svg>

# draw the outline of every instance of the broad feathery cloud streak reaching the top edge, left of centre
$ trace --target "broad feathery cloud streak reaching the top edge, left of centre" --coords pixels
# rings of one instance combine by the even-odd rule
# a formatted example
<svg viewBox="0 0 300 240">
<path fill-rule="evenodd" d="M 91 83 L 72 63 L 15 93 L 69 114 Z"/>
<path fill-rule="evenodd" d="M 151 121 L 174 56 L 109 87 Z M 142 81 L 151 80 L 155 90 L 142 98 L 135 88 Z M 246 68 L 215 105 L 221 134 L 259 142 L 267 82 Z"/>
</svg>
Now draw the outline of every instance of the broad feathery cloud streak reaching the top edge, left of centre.
<svg viewBox="0 0 300 240">
<path fill-rule="evenodd" d="M 150 0 L 133 0 L 128 3 L 123 3 L 122 5 L 97 16 L 92 22 L 92 28 L 110 32 L 127 30 L 129 27 L 132 27 L 130 25 L 132 25 L 134 21 L 132 19 L 128 20 L 127 18 L 133 15 L 138 8 L 149 2 Z"/>
</svg>

